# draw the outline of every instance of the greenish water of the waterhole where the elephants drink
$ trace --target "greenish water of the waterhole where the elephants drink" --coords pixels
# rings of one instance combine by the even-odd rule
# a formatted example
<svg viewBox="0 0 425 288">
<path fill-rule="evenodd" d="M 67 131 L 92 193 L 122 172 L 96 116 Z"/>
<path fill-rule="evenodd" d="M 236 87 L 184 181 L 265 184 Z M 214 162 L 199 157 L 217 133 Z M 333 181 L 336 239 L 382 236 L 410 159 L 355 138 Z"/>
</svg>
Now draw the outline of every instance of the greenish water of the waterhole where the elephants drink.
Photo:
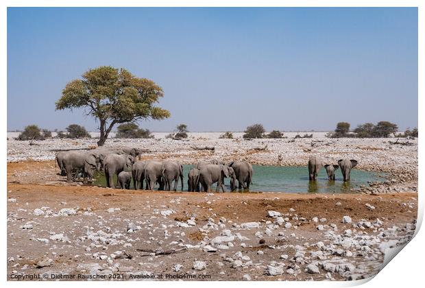
<svg viewBox="0 0 425 288">
<path fill-rule="evenodd" d="M 184 190 L 187 191 L 187 174 L 194 165 L 183 165 Z M 280 166 L 260 166 L 253 165 L 254 177 L 250 186 L 250 191 L 263 192 L 287 192 L 287 193 L 349 193 L 350 189 L 367 186 L 367 181 L 384 181 L 382 173 L 362 171 L 352 169 L 351 181 L 343 182 L 341 170 L 335 171 L 335 181 L 329 181 L 326 171 L 322 168 L 316 181 L 308 181 L 307 167 L 280 167 Z M 117 183 L 117 176 L 114 176 L 114 183 Z M 105 176 L 95 175 L 93 184 L 106 187 Z M 230 180 L 225 179 L 226 190 L 230 191 Z M 145 184 L 144 184 L 145 185 Z M 132 189 L 133 181 L 132 181 Z M 157 187 L 156 187 L 157 189 Z M 181 189 L 180 180 L 178 191 Z M 215 184 L 212 191 L 215 191 Z"/>
</svg>

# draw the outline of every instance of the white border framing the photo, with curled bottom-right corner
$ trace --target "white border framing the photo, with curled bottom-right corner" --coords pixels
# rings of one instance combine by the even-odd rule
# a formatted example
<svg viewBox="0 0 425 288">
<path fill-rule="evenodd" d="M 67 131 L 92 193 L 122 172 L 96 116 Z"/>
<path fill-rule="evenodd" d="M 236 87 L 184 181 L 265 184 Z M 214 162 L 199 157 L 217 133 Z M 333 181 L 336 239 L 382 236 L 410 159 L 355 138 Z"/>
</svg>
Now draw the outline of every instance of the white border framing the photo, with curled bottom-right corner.
<svg viewBox="0 0 425 288">
<path fill-rule="evenodd" d="M 423 89 L 424 84 L 420 80 L 424 79 L 424 56 L 423 51 L 425 49 L 424 45 L 424 5 L 425 1 L 420 0 L 406 0 L 406 1 L 400 1 L 400 0 L 327 0 L 327 1 L 319 1 L 319 0 L 287 0 L 287 1 L 273 1 L 273 0 L 265 0 L 265 1 L 253 1 L 253 0 L 246 0 L 246 1 L 236 1 L 236 0 L 217 0 L 217 1 L 194 1 L 194 0 L 182 0 L 182 1 L 172 1 L 172 0 L 158 0 L 158 1 L 136 1 L 136 0 L 61 0 L 61 1 L 51 1 L 51 0 L 39 0 L 39 1 L 30 1 L 30 0 L 3 0 L 1 1 L 1 11 L 0 11 L 0 39 L 2 41 L 2 45 L 0 47 L 1 49 L 1 61 L 2 63 L 2 69 L 0 74 L 0 84 L 1 84 L 1 93 L 2 97 L 0 97 L 1 105 L 1 123 L 2 123 L 2 130 L 3 130 L 3 139 L 5 139 L 5 134 L 7 131 L 7 47 L 6 47 L 6 40 L 7 40 L 7 7 L 42 7 L 42 6 L 53 6 L 53 7 L 418 7 L 418 19 L 419 19 L 419 29 L 418 29 L 418 60 L 419 60 L 419 71 L 418 71 L 418 79 L 419 79 L 419 90 L 418 94 L 423 96 Z M 31 97 L 31 95 L 28 95 L 28 97 Z M 418 97 L 418 104 L 419 104 L 419 123 L 418 126 L 420 130 L 422 131 L 422 125 L 421 123 L 424 123 L 424 116 L 421 114 L 424 107 L 424 100 L 422 97 Z M 425 126 L 424 126 L 425 127 Z M 3 183 L 3 193 L 6 194 L 6 151 L 7 151 L 7 144 L 5 140 L 1 142 L 1 147 L 3 149 L 3 162 L 0 171 L 0 181 Z M 422 158 L 422 141 L 419 143 L 419 171 L 424 171 L 423 167 L 424 165 L 421 163 Z M 423 188 L 423 182 L 422 178 L 423 176 L 420 175 L 419 179 L 419 191 L 422 191 Z M 3 215 L 6 215 L 6 201 L 5 201 L 5 195 L 3 194 Z M 420 224 L 422 224 L 422 218 L 424 213 L 424 199 L 423 199 L 423 193 L 419 193 L 419 201 L 420 204 L 419 207 L 419 215 L 418 215 L 418 227 Z M 1 238 L 1 245 L 2 250 L 1 253 L 3 255 L 2 261 L 1 261 L 1 271 L 4 272 L 2 275 L 3 281 L 6 279 L 6 223 L 5 223 L 5 217 L 3 218 L 3 221 L 1 221 L 1 230 L 3 233 L 3 237 Z M 425 235 L 423 231 L 420 231 L 417 233 L 417 236 L 409 243 L 409 245 L 406 246 L 402 250 L 402 252 L 396 256 L 396 259 L 391 261 L 383 271 L 378 273 L 378 275 L 370 282 L 366 283 L 365 287 L 373 287 L 375 285 L 384 286 L 384 287 L 416 287 L 421 283 L 422 281 L 422 274 L 424 274 L 424 243 L 425 243 Z M 291 283 L 276 283 L 276 282 L 262 282 L 258 283 L 259 285 L 265 285 L 268 287 L 274 286 L 277 287 L 278 285 L 291 285 L 291 287 L 304 287 L 306 285 L 308 286 L 314 286 L 314 287 L 343 287 L 343 286 L 353 286 L 353 285 L 359 285 L 361 283 L 365 283 L 367 280 L 361 280 L 361 281 L 352 281 L 352 282 L 291 282 Z M 9 285 L 11 287 L 20 287 L 23 285 L 32 285 L 33 287 L 41 287 L 41 286 L 51 286 L 56 285 L 55 282 L 42 282 L 42 283 L 23 283 L 23 282 L 12 282 L 8 281 L 5 283 L 6 285 Z M 213 287 L 213 285 L 216 285 L 217 283 L 213 282 L 204 282 L 202 284 L 195 283 L 195 282 L 163 282 L 163 283 L 76 283 L 77 285 L 90 285 L 90 287 L 94 286 L 100 286 L 100 285 L 137 285 L 140 287 L 141 285 L 149 285 L 154 284 L 155 286 L 162 286 L 162 285 L 173 285 L 173 287 L 195 287 L 198 285 L 206 286 L 206 287 Z M 223 283 L 220 285 L 228 285 L 233 286 L 236 283 Z M 237 283 L 239 284 L 239 283 Z M 236 284 L 236 285 L 237 285 Z M 258 285 L 256 282 L 245 282 L 240 283 L 240 285 L 244 285 L 247 287 L 254 287 L 254 285 Z M 65 283 L 61 282 L 61 286 L 64 287 L 71 287 L 74 286 L 75 283 Z"/>
</svg>

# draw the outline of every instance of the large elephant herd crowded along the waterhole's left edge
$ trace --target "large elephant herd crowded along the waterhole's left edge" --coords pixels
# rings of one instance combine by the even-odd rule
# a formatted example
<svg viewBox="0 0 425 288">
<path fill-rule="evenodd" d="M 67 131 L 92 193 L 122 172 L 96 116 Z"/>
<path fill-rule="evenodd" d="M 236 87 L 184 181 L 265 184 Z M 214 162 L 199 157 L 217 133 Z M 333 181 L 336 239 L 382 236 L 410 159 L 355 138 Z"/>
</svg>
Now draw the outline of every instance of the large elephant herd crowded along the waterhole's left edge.
<svg viewBox="0 0 425 288">
<path fill-rule="evenodd" d="M 183 165 L 174 160 L 141 160 L 137 148 L 97 147 L 88 151 L 66 151 L 56 154 L 56 163 L 60 167 L 60 175 L 72 182 L 79 176 L 83 180 L 92 180 L 95 171 L 104 170 L 107 187 L 130 189 L 133 180 L 134 189 L 153 190 L 156 184 L 159 190 L 177 191 L 178 181 L 183 184 Z M 212 160 L 209 163 L 200 161 L 188 174 L 188 191 L 210 192 L 211 186 L 217 183 L 216 192 L 225 191 L 224 178 L 230 178 L 230 189 L 249 189 L 252 183 L 252 165 L 245 161 L 232 161 L 229 165 Z M 117 186 L 114 185 L 117 175 Z M 145 182 L 145 185 L 143 185 Z"/>
</svg>

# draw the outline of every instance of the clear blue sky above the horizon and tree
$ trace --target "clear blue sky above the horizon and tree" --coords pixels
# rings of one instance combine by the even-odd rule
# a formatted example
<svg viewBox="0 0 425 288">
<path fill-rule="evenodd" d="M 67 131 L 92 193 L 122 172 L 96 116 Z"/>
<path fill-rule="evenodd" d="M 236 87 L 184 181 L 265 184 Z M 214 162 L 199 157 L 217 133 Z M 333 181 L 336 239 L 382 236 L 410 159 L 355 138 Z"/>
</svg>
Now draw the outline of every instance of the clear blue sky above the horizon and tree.
<svg viewBox="0 0 425 288">
<path fill-rule="evenodd" d="M 8 8 L 8 130 L 97 131 L 55 102 L 103 65 L 164 89 L 153 132 L 417 127 L 416 8 Z"/>
</svg>

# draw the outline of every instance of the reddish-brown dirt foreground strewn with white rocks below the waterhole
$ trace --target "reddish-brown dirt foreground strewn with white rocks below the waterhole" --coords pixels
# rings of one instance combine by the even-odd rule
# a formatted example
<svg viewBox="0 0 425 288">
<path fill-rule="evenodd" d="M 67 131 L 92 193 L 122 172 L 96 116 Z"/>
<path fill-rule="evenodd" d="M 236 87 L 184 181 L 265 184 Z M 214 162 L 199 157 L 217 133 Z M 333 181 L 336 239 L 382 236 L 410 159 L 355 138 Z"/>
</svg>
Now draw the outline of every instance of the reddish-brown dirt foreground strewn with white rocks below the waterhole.
<svg viewBox="0 0 425 288">
<path fill-rule="evenodd" d="M 417 193 L 166 193 L 57 172 L 8 163 L 8 280 L 365 278 L 417 217 Z"/>
</svg>

